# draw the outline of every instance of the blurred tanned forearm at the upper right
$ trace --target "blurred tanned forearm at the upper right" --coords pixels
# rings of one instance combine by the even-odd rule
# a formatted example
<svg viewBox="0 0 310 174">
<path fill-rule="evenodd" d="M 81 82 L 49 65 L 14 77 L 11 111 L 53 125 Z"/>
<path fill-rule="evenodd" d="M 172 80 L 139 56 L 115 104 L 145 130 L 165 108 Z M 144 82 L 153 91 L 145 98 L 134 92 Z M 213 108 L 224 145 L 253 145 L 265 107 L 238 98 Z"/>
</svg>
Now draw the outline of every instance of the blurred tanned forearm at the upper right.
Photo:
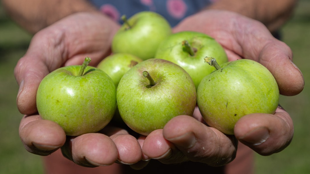
<svg viewBox="0 0 310 174">
<path fill-rule="evenodd" d="M 218 0 L 207 9 L 237 12 L 259 20 L 274 32 L 292 15 L 297 0 Z"/>
</svg>

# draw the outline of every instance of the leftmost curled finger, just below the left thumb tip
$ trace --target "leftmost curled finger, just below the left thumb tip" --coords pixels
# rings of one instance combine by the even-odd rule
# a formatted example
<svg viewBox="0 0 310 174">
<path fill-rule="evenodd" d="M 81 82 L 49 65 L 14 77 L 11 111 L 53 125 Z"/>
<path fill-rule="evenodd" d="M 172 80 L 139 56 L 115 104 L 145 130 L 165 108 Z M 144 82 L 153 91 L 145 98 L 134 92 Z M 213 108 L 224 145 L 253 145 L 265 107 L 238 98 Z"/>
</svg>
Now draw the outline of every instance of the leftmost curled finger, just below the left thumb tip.
<svg viewBox="0 0 310 174">
<path fill-rule="evenodd" d="M 42 120 L 39 115 L 24 116 L 19 134 L 26 150 L 43 156 L 59 149 L 66 140 L 64 130 L 58 124 Z"/>
</svg>

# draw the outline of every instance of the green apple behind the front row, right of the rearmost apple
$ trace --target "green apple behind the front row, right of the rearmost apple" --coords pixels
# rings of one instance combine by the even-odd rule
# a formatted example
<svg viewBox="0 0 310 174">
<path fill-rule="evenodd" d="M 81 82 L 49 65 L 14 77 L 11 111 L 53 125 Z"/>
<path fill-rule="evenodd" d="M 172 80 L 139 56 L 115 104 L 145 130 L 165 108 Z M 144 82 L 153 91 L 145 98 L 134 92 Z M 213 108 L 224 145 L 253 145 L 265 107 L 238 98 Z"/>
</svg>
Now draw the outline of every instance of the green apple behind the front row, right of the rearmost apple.
<svg viewBox="0 0 310 174">
<path fill-rule="evenodd" d="M 159 45 L 155 58 L 169 60 L 183 67 L 196 89 L 200 81 L 215 70 L 205 67 L 203 58 L 214 57 L 219 64 L 228 62 L 223 47 L 214 38 L 199 32 L 183 31 L 170 35 Z"/>
</svg>

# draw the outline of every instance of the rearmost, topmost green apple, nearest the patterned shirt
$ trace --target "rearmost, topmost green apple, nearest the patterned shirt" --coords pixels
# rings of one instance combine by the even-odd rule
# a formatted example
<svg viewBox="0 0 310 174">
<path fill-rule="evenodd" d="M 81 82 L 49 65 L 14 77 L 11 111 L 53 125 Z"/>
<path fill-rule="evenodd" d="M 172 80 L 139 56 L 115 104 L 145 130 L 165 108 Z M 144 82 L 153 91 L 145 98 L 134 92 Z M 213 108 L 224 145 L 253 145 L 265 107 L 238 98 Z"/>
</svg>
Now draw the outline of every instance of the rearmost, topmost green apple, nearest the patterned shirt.
<svg viewBox="0 0 310 174">
<path fill-rule="evenodd" d="M 126 20 L 112 41 L 113 53 L 130 53 L 143 60 L 154 58 L 160 42 L 171 33 L 167 20 L 152 11 L 136 13 Z"/>
</svg>

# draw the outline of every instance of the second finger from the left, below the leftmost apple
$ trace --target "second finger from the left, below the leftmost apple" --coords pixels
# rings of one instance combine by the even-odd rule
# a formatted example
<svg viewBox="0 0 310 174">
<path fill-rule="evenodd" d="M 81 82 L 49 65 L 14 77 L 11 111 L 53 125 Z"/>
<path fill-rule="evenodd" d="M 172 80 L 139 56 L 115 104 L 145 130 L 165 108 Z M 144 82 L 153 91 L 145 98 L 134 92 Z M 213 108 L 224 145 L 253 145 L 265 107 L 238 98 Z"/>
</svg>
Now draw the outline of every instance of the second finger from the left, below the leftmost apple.
<svg viewBox="0 0 310 174">
<path fill-rule="evenodd" d="M 68 138 L 61 151 L 66 158 L 84 167 L 111 165 L 118 155 L 111 138 L 101 133 L 86 133 Z"/>
</svg>

